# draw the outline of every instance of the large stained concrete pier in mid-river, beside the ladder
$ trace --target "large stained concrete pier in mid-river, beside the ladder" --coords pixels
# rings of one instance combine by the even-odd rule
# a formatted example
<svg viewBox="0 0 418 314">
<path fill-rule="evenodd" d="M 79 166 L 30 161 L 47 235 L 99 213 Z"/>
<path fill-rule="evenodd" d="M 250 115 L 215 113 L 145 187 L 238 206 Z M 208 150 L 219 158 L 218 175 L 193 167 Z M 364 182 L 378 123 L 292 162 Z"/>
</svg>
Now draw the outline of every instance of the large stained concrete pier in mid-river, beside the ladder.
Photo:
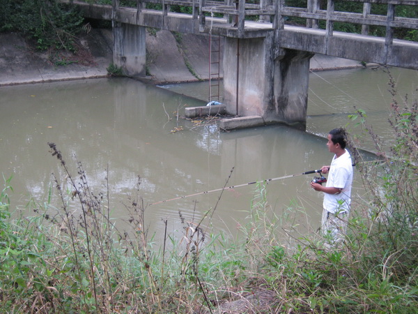
<svg viewBox="0 0 418 314">
<path fill-rule="evenodd" d="M 274 33 L 263 38 L 225 38 L 226 112 L 247 117 L 246 124 L 248 117 L 254 117 L 255 125 L 260 121 L 279 122 L 304 129 L 309 59 L 314 54 L 297 50 L 277 52 L 276 46 Z"/>
</svg>

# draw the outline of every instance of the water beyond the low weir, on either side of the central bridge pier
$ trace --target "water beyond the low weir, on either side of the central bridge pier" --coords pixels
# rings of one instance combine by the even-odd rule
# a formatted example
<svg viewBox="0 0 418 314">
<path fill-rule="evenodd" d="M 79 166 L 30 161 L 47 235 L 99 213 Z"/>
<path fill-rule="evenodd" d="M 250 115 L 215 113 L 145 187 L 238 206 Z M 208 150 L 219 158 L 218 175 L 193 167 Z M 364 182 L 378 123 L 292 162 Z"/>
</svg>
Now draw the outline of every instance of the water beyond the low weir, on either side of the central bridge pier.
<svg viewBox="0 0 418 314">
<path fill-rule="evenodd" d="M 387 71 L 380 67 L 311 73 L 307 132 L 326 137 L 332 128 L 346 126 L 348 114 L 353 114 L 357 108 L 366 112 L 369 124 L 382 140 L 393 143 L 393 133 L 387 124 L 392 103 Z M 389 73 L 396 82 L 396 99 L 400 104 L 405 96 L 412 99 L 417 95 L 417 70 L 389 68 Z M 176 84 L 166 88 L 201 100 L 208 98 L 208 86 L 204 83 Z M 357 135 L 362 133 L 359 128 L 351 128 L 351 131 Z M 374 149 L 369 136 L 361 136 L 358 144 L 365 149 Z"/>
</svg>

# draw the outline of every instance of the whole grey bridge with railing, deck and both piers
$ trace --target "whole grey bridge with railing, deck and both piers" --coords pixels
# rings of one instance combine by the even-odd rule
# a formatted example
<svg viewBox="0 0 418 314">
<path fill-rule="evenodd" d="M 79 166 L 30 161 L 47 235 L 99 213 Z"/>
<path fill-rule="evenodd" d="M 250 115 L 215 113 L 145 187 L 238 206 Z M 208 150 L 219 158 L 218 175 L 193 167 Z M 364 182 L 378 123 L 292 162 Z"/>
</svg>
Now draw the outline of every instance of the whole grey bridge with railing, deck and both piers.
<svg viewBox="0 0 418 314">
<path fill-rule="evenodd" d="M 325 8 L 320 0 L 307 0 L 304 8 L 286 6 L 285 0 L 64 2 L 79 6 L 85 17 L 113 22 L 114 63 L 130 75 L 145 72 L 145 27 L 224 37 L 226 111 L 263 124 L 304 125 L 309 59 L 316 53 L 418 70 L 418 43 L 394 38 L 396 29 L 418 31 L 418 17 L 396 15 L 398 6 L 418 1 L 344 1 L 363 3 L 362 13 L 337 11 L 336 0 L 327 0 Z M 373 14 L 376 5 L 385 5 L 386 14 Z M 171 12 L 173 6 L 192 8 L 192 14 Z M 304 25 L 286 24 L 288 17 Z M 334 31 L 337 22 L 361 25 L 362 33 Z M 370 27 L 384 29 L 385 37 L 371 36 Z"/>
</svg>

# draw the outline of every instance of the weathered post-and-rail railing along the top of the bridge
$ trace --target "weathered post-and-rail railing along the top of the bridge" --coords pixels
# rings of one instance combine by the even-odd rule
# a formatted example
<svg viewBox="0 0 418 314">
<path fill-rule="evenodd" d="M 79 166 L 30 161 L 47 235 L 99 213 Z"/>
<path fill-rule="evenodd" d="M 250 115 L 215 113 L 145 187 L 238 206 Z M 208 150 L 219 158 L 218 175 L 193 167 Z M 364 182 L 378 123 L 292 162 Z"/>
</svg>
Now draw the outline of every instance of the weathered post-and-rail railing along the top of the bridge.
<svg viewBox="0 0 418 314">
<path fill-rule="evenodd" d="M 71 1 L 71 0 L 70 0 Z M 221 14 L 233 23 L 238 33 L 245 31 L 245 17 L 260 16 L 264 20 L 272 20 L 273 29 L 284 29 L 287 17 L 302 17 L 307 19 L 306 26 L 319 28 L 319 21 L 325 21 L 326 36 L 332 36 L 334 22 L 346 22 L 362 25 L 362 34 L 368 35 L 369 26 L 385 27 L 385 44 L 391 45 L 394 39 L 394 29 L 418 29 L 418 18 L 396 17 L 395 7 L 418 6 L 417 0 L 344 0 L 363 4 L 362 13 L 349 13 L 334 10 L 337 0 L 327 0 L 326 10 L 321 10 L 320 0 L 308 0 L 306 8 L 286 6 L 285 0 L 258 0 L 258 3 L 246 3 L 245 0 L 132 0 L 137 14 L 146 8 L 146 3 L 162 5 L 162 15 L 167 15 L 171 6 L 187 6 L 192 8 L 192 19 L 199 18 L 201 25 L 206 23 L 206 15 Z M 341 0 L 340 0 L 341 1 Z M 386 15 L 371 14 L 371 4 L 387 4 Z M 112 0 L 113 17 L 116 10 L 123 8 L 120 0 Z M 132 8 L 132 6 L 130 7 Z M 235 17 L 232 18 L 231 17 Z M 260 20 L 263 20 L 262 18 Z"/>
</svg>

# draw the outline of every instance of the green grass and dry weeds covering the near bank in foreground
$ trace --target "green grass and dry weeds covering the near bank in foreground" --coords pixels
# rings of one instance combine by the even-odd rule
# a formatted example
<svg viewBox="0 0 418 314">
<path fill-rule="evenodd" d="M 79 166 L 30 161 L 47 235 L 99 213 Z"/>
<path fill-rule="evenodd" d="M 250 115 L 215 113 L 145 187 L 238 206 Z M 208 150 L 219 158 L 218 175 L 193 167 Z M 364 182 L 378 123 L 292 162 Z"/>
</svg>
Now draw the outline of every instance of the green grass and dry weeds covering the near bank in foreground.
<svg viewBox="0 0 418 314">
<path fill-rule="evenodd" d="M 28 205 L 34 216 L 11 219 L 10 178 L 1 190 L 2 311 L 216 313 L 231 300 L 235 313 L 415 311 L 418 102 L 415 95 L 398 103 L 391 84 L 392 147 L 373 134 L 362 110 L 350 116 L 348 127 L 369 132 L 380 160 L 361 163 L 355 155 L 366 193 L 353 202 L 348 237 L 338 247 L 327 247 L 315 232 L 296 236 L 292 217 L 302 209 L 295 204 L 277 214 L 262 184 L 238 239 L 207 232 L 215 206 L 200 221 L 179 212 L 182 236 L 166 233 L 155 243 L 139 188 L 127 197 L 132 228 L 119 230 L 107 202 L 111 189 L 91 190 L 82 163 L 71 174 L 49 143 L 63 177 L 54 178 L 45 202 Z M 56 207 L 54 195 L 61 200 Z"/>
</svg>

